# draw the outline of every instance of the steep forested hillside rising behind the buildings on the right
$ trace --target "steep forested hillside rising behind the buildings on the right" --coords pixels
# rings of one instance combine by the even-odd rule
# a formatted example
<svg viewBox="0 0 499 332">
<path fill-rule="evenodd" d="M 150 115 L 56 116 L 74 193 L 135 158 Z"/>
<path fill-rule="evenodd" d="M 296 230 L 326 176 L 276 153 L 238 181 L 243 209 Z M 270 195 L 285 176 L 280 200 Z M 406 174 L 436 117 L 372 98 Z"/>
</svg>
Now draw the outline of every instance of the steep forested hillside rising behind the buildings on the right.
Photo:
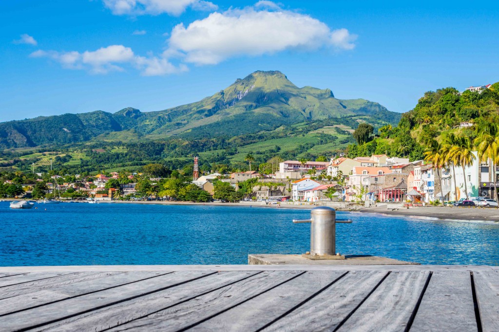
<svg viewBox="0 0 499 332">
<path fill-rule="evenodd" d="M 461 123 L 467 122 L 469 124 Z M 388 153 L 390 156 L 422 160 L 434 142 L 450 136 L 465 138 L 470 149 L 478 149 L 477 138 L 490 125 L 499 126 L 499 82 L 481 92 L 455 88 L 429 91 L 411 111 L 404 113 L 397 127 L 374 129 L 368 138 L 348 147 L 351 157 Z M 499 139 L 498 139 L 499 142 Z"/>
</svg>

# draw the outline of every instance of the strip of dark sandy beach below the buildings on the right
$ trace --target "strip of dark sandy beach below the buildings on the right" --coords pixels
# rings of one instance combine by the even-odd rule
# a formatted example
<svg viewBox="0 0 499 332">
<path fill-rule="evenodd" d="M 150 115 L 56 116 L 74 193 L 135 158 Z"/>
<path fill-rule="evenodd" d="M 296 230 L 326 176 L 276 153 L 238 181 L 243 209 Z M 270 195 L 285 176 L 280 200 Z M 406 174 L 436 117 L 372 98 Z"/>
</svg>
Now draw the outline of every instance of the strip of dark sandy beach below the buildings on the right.
<svg viewBox="0 0 499 332">
<path fill-rule="evenodd" d="M 495 207 L 415 206 L 398 208 L 392 211 L 391 209 L 387 209 L 386 205 L 383 205 L 366 207 L 358 210 L 358 212 L 438 218 L 442 220 L 499 222 L 499 209 Z"/>
</svg>

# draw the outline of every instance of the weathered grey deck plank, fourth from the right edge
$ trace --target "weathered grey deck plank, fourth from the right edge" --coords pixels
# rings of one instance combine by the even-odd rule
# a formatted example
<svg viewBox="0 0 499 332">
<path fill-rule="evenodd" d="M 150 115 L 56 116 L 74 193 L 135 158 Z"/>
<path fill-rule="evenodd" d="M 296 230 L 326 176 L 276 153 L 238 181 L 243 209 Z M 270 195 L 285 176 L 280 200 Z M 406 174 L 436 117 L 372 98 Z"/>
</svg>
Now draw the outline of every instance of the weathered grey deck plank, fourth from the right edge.
<svg viewBox="0 0 499 332">
<path fill-rule="evenodd" d="M 331 287 L 263 331 L 332 331 L 386 274 L 385 271 L 349 272 Z"/>
</svg>

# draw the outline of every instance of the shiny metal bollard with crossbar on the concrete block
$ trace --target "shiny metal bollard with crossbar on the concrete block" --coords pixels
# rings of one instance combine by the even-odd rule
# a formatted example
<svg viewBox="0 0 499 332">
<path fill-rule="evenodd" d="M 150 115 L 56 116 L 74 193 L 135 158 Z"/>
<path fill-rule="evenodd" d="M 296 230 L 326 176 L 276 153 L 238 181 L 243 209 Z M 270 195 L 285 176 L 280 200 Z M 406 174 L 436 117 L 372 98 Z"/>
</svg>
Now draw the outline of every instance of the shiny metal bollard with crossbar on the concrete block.
<svg viewBox="0 0 499 332">
<path fill-rule="evenodd" d="M 293 223 L 310 223 L 310 252 L 303 254 L 309 259 L 345 259 L 336 253 L 336 223 L 351 223 L 350 219 L 336 219 L 336 211 L 327 206 L 315 207 L 310 219 L 293 220 Z"/>
</svg>

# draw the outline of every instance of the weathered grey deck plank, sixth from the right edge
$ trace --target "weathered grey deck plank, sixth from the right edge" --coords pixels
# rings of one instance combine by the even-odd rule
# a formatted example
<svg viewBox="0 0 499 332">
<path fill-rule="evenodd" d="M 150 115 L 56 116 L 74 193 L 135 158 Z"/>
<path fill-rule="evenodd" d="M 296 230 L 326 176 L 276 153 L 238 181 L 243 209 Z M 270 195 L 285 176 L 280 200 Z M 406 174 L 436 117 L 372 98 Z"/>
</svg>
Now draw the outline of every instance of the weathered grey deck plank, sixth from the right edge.
<svg viewBox="0 0 499 332">
<path fill-rule="evenodd" d="M 179 331 L 224 310 L 231 309 L 262 292 L 278 287 L 304 272 L 263 272 L 253 278 L 199 296 L 175 307 L 113 328 L 109 331 Z M 147 328 L 145 328 L 147 327 Z"/>
</svg>

